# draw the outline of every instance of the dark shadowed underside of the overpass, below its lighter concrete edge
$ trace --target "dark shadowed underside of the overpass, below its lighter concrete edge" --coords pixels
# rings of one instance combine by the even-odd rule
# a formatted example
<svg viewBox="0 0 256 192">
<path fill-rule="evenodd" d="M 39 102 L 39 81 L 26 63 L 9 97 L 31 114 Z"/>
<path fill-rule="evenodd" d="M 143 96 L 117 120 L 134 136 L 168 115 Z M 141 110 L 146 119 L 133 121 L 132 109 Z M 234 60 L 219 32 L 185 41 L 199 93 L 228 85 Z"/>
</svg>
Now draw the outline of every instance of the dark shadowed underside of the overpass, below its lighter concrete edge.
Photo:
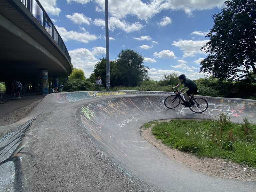
<svg viewBox="0 0 256 192">
<path fill-rule="evenodd" d="M 35 79 L 40 69 L 47 69 L 49 78 L 66 77 L 67 72 L 33 45 L 0 27 L 0 80 Z"/>
</svg>

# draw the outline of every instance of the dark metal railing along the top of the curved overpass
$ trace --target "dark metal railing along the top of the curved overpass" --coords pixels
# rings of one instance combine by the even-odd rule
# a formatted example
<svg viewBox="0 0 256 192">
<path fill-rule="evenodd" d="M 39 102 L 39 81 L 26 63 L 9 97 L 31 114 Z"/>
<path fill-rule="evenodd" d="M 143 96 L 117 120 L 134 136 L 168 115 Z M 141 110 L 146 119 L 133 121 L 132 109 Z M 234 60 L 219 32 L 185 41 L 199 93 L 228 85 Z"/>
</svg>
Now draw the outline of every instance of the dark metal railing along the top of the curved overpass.
<svg viewBox="0 0 256 192">
<path fill-rule="evenodd" d="M 64 44 L 64 41 L 62 40 L 60 34 L 58 33 L 57 29 L 53 25 L 53 22 L 51 21 L 50 17 L 47 15 L 41 3 L 38 0 L 20 0 L 20 1 L 27 7 L 30 13 L 32 13 L 32 15 L 37 19 L 37 21 L 51 35 L 54 41 L 59 45 L 59 47 L 66 54 L 70 62 L 71 58 L 69 56 L 66 45 Z"/>
</svg>

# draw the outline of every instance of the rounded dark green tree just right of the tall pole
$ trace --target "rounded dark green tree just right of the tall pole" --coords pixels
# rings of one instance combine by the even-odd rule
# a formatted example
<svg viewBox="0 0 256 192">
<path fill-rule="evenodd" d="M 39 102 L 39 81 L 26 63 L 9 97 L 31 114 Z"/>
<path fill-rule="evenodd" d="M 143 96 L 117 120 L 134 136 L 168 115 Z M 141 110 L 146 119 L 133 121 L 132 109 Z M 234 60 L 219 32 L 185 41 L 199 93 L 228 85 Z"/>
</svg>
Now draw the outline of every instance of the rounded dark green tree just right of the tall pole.
<svg viewBox="0 0 256 192">
<path fill-rule="evenodd" d="M 143 57 L 131 49 L 118 54 L 112 75 L 117 86 L 137 86 L 148 77 L 148 67 L 143 65 Z M 112 81 L 112 80 L 111 80 Z"/>
</svg>

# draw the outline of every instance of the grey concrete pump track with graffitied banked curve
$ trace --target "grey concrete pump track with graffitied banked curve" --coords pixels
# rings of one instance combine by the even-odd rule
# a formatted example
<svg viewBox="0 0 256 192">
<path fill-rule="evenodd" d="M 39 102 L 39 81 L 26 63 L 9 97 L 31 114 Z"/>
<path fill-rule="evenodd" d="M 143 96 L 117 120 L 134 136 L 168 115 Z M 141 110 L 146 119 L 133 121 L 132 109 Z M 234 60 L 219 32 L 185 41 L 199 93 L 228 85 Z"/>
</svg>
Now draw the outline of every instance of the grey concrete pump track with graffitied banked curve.
<svg viewBox="0 0 256 192">
<path fill-rule="evenodd" d="M 233 122 L 249 117 L 255 123 L 256 101 L 201 96 L 209 107 L 195 114 L 182 105 L 167 109 L 164 100 L 170 94 L 112 91 L 47 95 L 26 118 L 0 127 L 0 191 L 256 192 L 256 182 L 219 179 L 191 170 L 140 135 L 140 127 L 149 121 L 213 119 L 220 112 L 229 113 Z M 91 148 L 87 142 L 100 152 L 88 155 Z M 86 164 L 86 159 L 93 162 Z M 103 168 L 104 159 L 113 166 Z M 113 167 L 122 177 L 107 172 Z M 100 177 L 106 178 L 96 186 Z M 102 181 L 109 182 L 110 177 L 114 181 L 108 188 Z M 140 188 L 128 190 L 122 183 L 124 178 Z M 116 189 L 120 183 L 124 187 Z"/>
</svg>

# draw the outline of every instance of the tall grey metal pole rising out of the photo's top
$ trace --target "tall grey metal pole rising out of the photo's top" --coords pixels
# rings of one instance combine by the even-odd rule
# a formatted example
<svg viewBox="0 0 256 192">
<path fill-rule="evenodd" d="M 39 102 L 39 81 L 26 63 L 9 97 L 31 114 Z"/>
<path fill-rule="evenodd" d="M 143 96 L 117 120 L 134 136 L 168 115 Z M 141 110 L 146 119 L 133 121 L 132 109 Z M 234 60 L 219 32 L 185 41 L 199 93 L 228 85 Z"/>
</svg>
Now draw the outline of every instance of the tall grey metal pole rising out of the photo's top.
<svg viewBox="0 0 256 192">
<path fill-rule="evenodd" d="M 109 64 L 109 34 L 108 34 L 108 0 L 105 0 L 106 22 L 106 88 L 110 91 L 110 64 Z"/>
</svg>

